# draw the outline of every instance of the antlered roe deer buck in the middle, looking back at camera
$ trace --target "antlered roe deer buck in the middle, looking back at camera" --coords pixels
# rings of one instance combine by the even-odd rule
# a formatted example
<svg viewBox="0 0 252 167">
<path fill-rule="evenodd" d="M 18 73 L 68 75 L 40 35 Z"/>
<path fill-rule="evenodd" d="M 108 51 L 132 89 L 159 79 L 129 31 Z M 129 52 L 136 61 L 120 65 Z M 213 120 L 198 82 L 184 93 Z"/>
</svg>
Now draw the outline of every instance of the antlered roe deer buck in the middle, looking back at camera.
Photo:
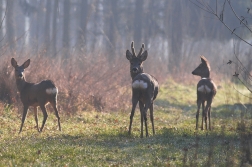
<svg viewBox="0 0 252 167">
<path fill-rule="evenodd" d="M 150 74 L 143 72 L 143 61 L 147 59 L 148 52 L 144 50 L 144 44 L 140 52 L 136 56 L 134 49 L 134 42 L 131 43 L 131 50 L 126 51 L 126 58 L 130 62 L 130 74 L 132 78 L 132 110 L 130 114 L 129 134 L 131 134 L 131 125 L 135 113 L 135 108 L 139 102 L 141 113 L 141 138 L 143 137 L 143 120 L 145 121 L 146 137 L 149 136 L 147 128 L 147 110 L 150 109 L 150 119 L 152 123 L 152 131 L 155 134 L 154 120 L 153 120 L 153 101 L 158 94 L 158 82 Z"/>
</svg>

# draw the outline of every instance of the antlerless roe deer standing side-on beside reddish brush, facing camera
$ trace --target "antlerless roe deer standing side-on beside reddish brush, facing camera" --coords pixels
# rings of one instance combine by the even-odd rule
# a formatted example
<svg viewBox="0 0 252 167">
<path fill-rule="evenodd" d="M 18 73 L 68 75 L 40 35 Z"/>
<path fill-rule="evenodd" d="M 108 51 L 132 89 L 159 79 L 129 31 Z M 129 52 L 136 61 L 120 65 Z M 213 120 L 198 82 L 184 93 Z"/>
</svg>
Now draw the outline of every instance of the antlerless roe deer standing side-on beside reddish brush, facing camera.
<svg viewBox="0 0 252 167">
<path fill-rule="evenodd" d="M 61 131 L 60 126 L 60 117 L 57 110 L 57 93 L 58 89 L 54 85 L 54 83 L 50 80 L 44 80 L 40 83 L 29 83 L 26 82 L 25 76 L 24 76 L 24 69 L 27 68 L 30 65 L 30 59 L 24 62 L 23 65 L 19 66 L 17 64 L 17 61 L 12 58 L 11 59 L 11 65 L 15 68 L 15 78 L 16 78 L 16 84 L 18 91 L 20 93 L 20 98 L 23 103 L 23 116 L 22 116 L 22 123 L 19 130 L 19 133 L 21 133 L 24 121 L 26 118 L 27 110 L 29 106 L 34 107 L 34 116 L 36 121 L 36 127 L 39 132 L 42 132 L 43 127 L 45 125 L 46 119 L 47 119 L 47 112 L 46 112 L 46 104 L 49 102 L 53 106 L 53 109 L 55 111 L 56 117 L 58 119 L 58 126 L 59 130 Z M 38 127 L 38 116 L 37 116 L 37 107 L 40 106 L 42 112 L 43 112 L 43 122 L 42 126 L 39 129 Z"/>
</svg>

